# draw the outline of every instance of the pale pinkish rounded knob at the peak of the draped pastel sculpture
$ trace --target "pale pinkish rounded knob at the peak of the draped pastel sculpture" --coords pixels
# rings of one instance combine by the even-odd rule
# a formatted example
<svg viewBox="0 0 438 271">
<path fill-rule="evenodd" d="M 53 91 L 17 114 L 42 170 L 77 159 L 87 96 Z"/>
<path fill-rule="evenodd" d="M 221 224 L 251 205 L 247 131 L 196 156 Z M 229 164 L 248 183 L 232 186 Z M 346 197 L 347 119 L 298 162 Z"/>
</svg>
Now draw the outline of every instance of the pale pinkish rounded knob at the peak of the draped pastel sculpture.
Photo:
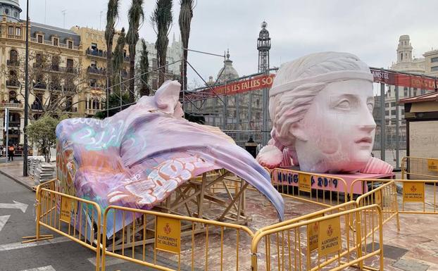
<svg viewBox="0 0 438 271">
<path fill-rule="evenodd" d="M 173 114 L 177 101 L 180 98 L 180 83 L 177 81 L 166 81 L 156 91 L 154 98 L 156 106 L 161 111 Z"/>
</svg>

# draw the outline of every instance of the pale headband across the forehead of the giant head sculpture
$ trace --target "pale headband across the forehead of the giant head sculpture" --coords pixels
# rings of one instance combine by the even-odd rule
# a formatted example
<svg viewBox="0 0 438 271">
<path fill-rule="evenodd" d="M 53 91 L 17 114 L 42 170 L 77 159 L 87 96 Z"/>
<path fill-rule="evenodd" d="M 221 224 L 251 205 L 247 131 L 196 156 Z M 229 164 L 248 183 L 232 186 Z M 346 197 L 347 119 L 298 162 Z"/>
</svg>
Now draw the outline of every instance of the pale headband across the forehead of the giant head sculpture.
<svg viewBox="0 0 438 271">
<path fill-rule="evenodd" d="M 332 73 L 324 73 L 322 75 L 315 75 L 312 77 L 306 77 L 303 79 L 287 82 L 285 84 L 280 84 L 272 87 L 269 91 L 269 96 L 275 96 L 282 92 L 287 92 L 291 89 L 301 86 L 302 84 L 309 83 L 330 83 L 344 80 L 367 80 L 373 82 L 373 75 L 369 72 L 362 70 L 339 70 Z"/>
</svg>

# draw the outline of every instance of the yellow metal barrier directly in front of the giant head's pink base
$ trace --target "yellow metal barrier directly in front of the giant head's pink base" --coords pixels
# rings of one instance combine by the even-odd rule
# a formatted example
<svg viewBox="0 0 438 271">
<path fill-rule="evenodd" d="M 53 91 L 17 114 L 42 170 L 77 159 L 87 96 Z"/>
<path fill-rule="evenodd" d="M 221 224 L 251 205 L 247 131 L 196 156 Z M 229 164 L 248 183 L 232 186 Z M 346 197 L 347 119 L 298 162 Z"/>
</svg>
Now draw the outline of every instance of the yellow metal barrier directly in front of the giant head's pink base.
<svg viewBox="0 0 438 271">
<path fill-rule="evenodd" d="M 349 187 L 340 177 L 282 168 L 275 168 L 270 174 L 273 186 L 282 196 L 324 207 L 348 201 Z"/>
</svg>

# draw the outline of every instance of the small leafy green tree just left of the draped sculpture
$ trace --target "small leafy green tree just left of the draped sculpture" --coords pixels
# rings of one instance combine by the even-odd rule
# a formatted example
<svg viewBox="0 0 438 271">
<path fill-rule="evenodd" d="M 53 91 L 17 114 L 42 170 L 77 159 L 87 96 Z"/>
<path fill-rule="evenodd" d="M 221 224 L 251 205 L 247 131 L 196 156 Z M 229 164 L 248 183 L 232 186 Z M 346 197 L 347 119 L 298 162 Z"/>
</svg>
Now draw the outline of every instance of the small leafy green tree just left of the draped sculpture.
<svg viewBox="0 0 438 271">
<path fill-rule="evenodd" d="M 29 141 L 37 145 L 46 162 L 50 162 L 50 149 L 56 147 L 56 125 L 63 119 L 65 116 L 53 118 L 50 115 L 43 115 L 27 126 Z"/>
</svg>

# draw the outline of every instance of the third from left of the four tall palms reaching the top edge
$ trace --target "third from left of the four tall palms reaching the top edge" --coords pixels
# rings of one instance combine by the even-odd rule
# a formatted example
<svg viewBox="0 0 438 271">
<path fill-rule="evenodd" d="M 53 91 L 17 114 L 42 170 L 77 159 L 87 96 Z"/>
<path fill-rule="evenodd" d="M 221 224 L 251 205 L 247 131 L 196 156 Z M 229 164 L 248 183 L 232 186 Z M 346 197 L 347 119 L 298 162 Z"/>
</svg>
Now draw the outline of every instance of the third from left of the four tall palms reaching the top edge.
<svg viewBox="0 0 438 271">
<path fill-rule="evenodd" d="M 158 87 L 164 82 L 165 55 L 168 50 L 169 32 L 172 25 L 172 0 L 157 0 L 156 8 L 151 16 L 152 25 L 156 32 L 155 49 L 158 56 Z"/>
</svg>

